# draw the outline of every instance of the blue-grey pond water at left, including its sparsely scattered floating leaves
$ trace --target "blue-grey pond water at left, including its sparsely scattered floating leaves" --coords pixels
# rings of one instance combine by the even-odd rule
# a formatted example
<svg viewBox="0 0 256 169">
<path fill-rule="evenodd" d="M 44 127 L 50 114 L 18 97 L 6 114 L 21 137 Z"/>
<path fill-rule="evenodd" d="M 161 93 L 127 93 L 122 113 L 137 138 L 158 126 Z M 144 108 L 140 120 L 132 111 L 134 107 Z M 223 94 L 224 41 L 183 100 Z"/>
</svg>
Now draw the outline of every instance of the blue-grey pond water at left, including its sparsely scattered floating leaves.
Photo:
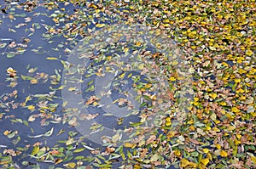
<svg viewBox="0 0 256 169">
<path fill-rule="evenodd" d="M 74 168 L 102 161 L 103 157 L 96 152 L 105 151 L 102 144 L 97 144 L 90 138 L 82 139 L 83 135 L 74 127 L 76 121 L 73 116 L 65 113 L 61 76 L 67 66 L 65 61 L 70 51 L 83 39 L 77 35 L 79 31 L 68 28 L 71 26 L 69 24 L 79 20 L 81 23 L 75 23 L 77 25 L 74 29 L 79 27 L 80 31 L 97 31 L 103 24 L 112 25 L 119 19 L 112 15 L 102 15 L 101 12 L 95 15 L 95 9 L 91 9 L 90 5 L 79 7 L 71 3 L 51 1 L 7 1 L 0 5 L 3 11 L 0 25 L 0 166 L 56 168 L 64 165 Z M 75 17 L 79 19 L 72 19 Z M 97 26 L 98 23 L 102 25 Z M 56 33 L 57 31 L 61 33 Z M 65 37 L 67 34 L 69 38 Z M 133 52 L 135 50 L 137 49 Z M 15 76 L 10 76 L 10 71 L 15 72 Z M 117 76 L 122 76 L 122 73 Z M 137 76 L 136 72 L 132 76 Z M 86 90 L 90 87 L 90 79 L 95 79 L 96 76 L 83 77 L 82 90 L 85 92 L 82 95 L 86 100 L 95 94 Z M 125 85 L 120 86 L 122 82 Z M 119 89 L 124 91 L 127 87 L 131 88 L 132 82 L 134 80 L 128 74 L 113 82 L 112 99 L 124 97 Z M 139 82 L 147 83 L 144 77 Z M 94 103 L 96 100 L 90 104 Z M 140 109 L 152 106 L 150 104 L 148 101 Z M 106 117 L 101 115 L 101 109 L 89 107 L 90 112 L 100 114 L 96 122 L 107 128 L 125 129 L 131 122 L 140 121 L 137 115 L 125 118 L 125 121 L 115 116 Z M 127 149 L 124 148 L 125 150 Z M 121 157 L 112 157 L 112 168 L 121 166 Z M 80 163 L 74 164 L 78 161 Z M 101 162 L 94 165 L 99 164 Z"/>
</svg>

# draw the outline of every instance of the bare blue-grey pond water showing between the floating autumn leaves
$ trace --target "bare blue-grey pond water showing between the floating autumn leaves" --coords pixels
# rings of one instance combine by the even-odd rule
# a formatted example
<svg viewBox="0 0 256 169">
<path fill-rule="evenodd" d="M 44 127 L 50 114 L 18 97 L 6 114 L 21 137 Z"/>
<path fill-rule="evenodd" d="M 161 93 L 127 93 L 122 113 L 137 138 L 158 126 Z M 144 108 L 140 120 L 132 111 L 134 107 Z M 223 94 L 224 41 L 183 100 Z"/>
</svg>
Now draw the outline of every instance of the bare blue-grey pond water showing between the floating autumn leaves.
<svg viewBox="0 0 256 169">
<path fill-rule="evenodd" d="M 26 1 L 20 1 L 19 4 L 25 3 Z M 43 3 L 44 1 L 40 1 L 40 3 Z M 51 37 L 50 39 L 47 39 L 45 37 L 46 29 L 44 28 L 44 25 L 55 25 L 55 22 L 49 18 L 50 14 L 54 14 L 55 10 L 48 10 L 44 7 L 37 7 L 32 8 L 32 12 L 24 12 L 22 9 L 15 8 L 15 4 L 12 3 L 0 3 L 1 8 L 5 7 L 11 7 L 10 9 L 7 9 L 8 14 L 1 14 L 1 20 L 2 24 L 0 25 L 0 42 L 1 43 L 7 43 L 6 47 L 0 48 L 0 96 L 7 95 L 8 93 L 12 93 L 14 90 L 18 91 L 18 94 L 16 98 L 9 98 L 7 100 L 3 100 L 1 98 L 1 101 L 4 103 L 11 102 L 12 99 L 14 99 L 14 103 L 23 103 L 25 102 L 26 98 L 33 94 L 49 94 L 50 92 L 53 92 L 50 90 L 50 87 L 60 87 L 61 86 L 61 80 L 59 84 L 53 86 L 50 82 L 50 78 L 46 82 L 38 82 L 37 84 L 31 84 L 29 80 L 23 80 L 21 79 L 22 76 L 35 76 L 33 73 L 29 73 L 28 69 L 30 68 L 36 68 L 37 70 L 35 72 L 39 73 L 45 73 L 49 76 L 56 75 L 56 72 L 58 74 L 62 74 L 63 72 L 63 65 L 61 64 L 60 60 L 67 60 L 68 54 L 64 52 L 64 48 L 69 48 L 72 50 L 75 47 L 75 42 L 79 42 L 80 39 L 83 37 L 75 37 L 73 41 L 67 41 L 67 38 L 62 36 L 55 36 Z M 12 8 L 15 8 L 15 10 L 12 10 Z M 73 14 L 73 11 L 77 8 L 83 9 L 86 7 L 78 7 L 73 5 L 67 5 L 64 6 L 63 3 L 60 3 L 59 8 L 65 8 L 65 14 Z M 15 15 L 15 20 L 9 20 L 9 14 Z M 19 16 L 20 15 L 20 16 Z M 15 27 L 19 24 L 25 23 L 25 18 L 32 17 L 32 21 L 26 23 L 26 25 L 22 25 L 20 27 Z M 105 18 L 108 18 L 106 21 Z M 112 25 L 115 23 L 117 19 L 115 19 L 112 16 L 102 16 L 102 18 L 95 19 L 96 21 L 105 20 L 104 23 L 107 25 Z M 60 27 L 64 25 L 64 23 L 61 22 L 60 25 L 57 27 Z M 90 29 L 94 27 L 94 25 L 88 25 Z M 31 28 L 34 29 L 34 33 L 30 30 Z M 98 30 L 100 28 L 96 28 Z M 15 30 L 16 32 L 10 31 Z M 32 34 L 32 35 L 31 35 Z M 26 38 L 30 39 L 30 42 L 26 42 Z M 8 54 L 12 54 L 15 51 L 15 48 L 9 48 L 9 44 L 15 42 L 16 44 L 19 43 L 23 45 L 27 45 L 26 52 L 23 54 L 16 54 L 13 58 L 8 58 Z M 55 50 L 55 48 L 58 48 L 61 44 L 61 47 L 59 50 Z M 55 57 L 58 58 L 58 60 L 49 60 L 47 58 L 49 57 Z M 6 82 L 6 79 L 9 77 L 6 75 L 6 70 L 12 67 L 17 71 L 17 76 L 19 78 L 17 79 L 17 86 L 16 87 L 8 87 L 9 82 Z M 136 72 L 135 72 L 136 74 Z M 90 76 L 90 78 L 95 78 L 94 76 Z M 124 80 L 128 81 L 128 84 L 124 86 L 118 86 L 123 91 L 129 90 L 131 88 L 131 79 L 129 80 L 128 77 L 125 77 Z M 86 89 L 86 82 L 90 82 L 90 79 L 84 79 L 84 84 L 82 85 L 83 91 Z M 119 80 L 115 81 L 116 83 L 120 83 Z M 145 77 L 141 77 L 140 82 L 147 82 Z M 113 82 L 114 83 L 114 82 Z M 113 85 L 113 84 L 112 84 Z M 120 97 L 124 97 L 124 94 L 120 94 L 119 90 L 116 90 L 113 86 L 111 87 L 113 90 L 113 93 L 111 95 L 112 99 L 118 99 Z M 94 93 L 90 92 L 84 92 L 82 93 L 83 99 L 90 98 L 90 95 Z M 39 99 L 39 98 L 38 98 Z M 38 99 L 32 99 L 27 100 L 26 105 L 35 105 L 38 104 Z M 65 116 L 63 107 L 61 107 L 61 104 L 63 104 L 61 99 L 61 90 L 56 90 L 54 97 L 51 98 L 52 100 L 48 100 L 49 104 L 59 104 L 58 107 L 56 107 L 56 110 L 54 113 L 51 113 L 51 115 L 55 115 L 55 117 L 61 117 L 63 118 Z M 150 102 L 148 102 L 150 104 Z M 26 127 L 24 122 L 22 121 L 28 121 L 29 117 L 31 115 L 39 115 L 40 112 L 38 110 L 35 110 L 31 112 L 30 110 L 27 110 L 26 107 L 18 106 L 18 108 L 12 109 L 11 104 L 9 105 L 9 111 L 6 111 L 6 107 L 0 107 L 0 113 L 3 114 L 3 118 L 0 118 L 0 145 L 2 145 L 3 148 L 0 148 L 0 153 L 3 154 L 3 149 L 24 149 L 22 150 L 21 155 L 14 156 L 12 161 L 15 163 L 17 168 L 54 168 L 54 167 L 63 167 L 63 163 L 68 163 L 73 161 L 73 158 L 79 155 L 83 155 L 84 157 L 87 157 L 90 154 L 90 150 L 86 149 L 83 152 L 73 154 L 73 158 L 70 157 L 68 161 L 64 161 L 60 164 L 53 164 L 53 163 L 47 163 L 42 161 L 37 161 L 37 159 L 32 158 L 31 153 L 33 149 L 33 144 L 41 143 L 41 147 L 47 147 L 47 148 L 60 148 L 62 147 L 64 149 L 64 154 L 67 156 L 70 154 L 70 149 L 79 149 L 83 148 L 81 144 L 78 145 L 78 147 L 72 147 L 72 146 L 66 146 L 66 144 L 59 143 L 60 140 L 66 140 L 73 135 L 72 133 L 77 132 L 75 127 L 72 127 L 67 124 L 60 123 L 52 123 L 49 122 L 47 125 L 41 125 L 41 119 L 37 118 L 35 121 L 28 122 L 29 126 Z M 143 107 L 141 107 L 143 109 Z M 94 109 L 89 108 L 90 112 L 98 112 L 100 114 L 104 114 L 104 112 L 101 109 Z M 18 119 L 18 120 L 17 120 Z M 138 122 L 140 118 L 138 118 L 137 115 L 131 115 L 127 118 L 125 118 L 125 121 L 121 125 L 118 125 L 116 117 L 108 117 L 101 115 L 96 118 L 96 121 L 102 124 L 104 127 L 108 128 L 116 128 L 116 129 L 124 129 L 125 127 L 128 127 L 130 122 Z M 20 122 L 21 121 L 21 122 Z M 38 138 L 32 138 L 32 136 L 44 134 L 45 132 L 49 132 L 52 128 L 54 128 L 53 133 L 49 137 L 38 137 Z M 3 135 L 3 132 L 6 130 L 8 131 L 18 131 L 18 134 L 15 135 L 14 138 L 7 138 Z M 65 132 L 59 134 L 61 130 L 65 130 Z M 82 135 L 80 133 L 77 133 L 74 138 L 80 138 Z M 18 141 L 17 144 L 14 144 L 14 140 L 20 137 L 20 141 Z M 73 137 L 73 136 L 72 136 Z M 101 145 L 95 144 L 90 141 L 90 139 L 85 138 L 83 140 L 84 144 L 90 146 L 99 148 L 100 150 L 105 149 L 102 148 Z M 30 144 L 30 147 L 26 149 L 26 146 Z M 4 147 L 6 146 L 6 147 Z M 125 149 L 127 150 L 127 149 Z M 72 156 L 72 155 L 71 155 Z M 61 157 L 63 159 L 63 157 Z M 66 159 L 66 160 L 67 160 Z M 118 168 L 120 166 L 120 159 L 116 159 L 117 161 L 113 163 L 113 168 Z M 24 165 L 22 162 L 27 161 L 28 164 Z M 91 164 L 91 161 L 84 160 L 84 165 Z M 1 165 L 0 165 L 1 166 Z M 19 166 L 19 167 L 18 167 Z"/>
</svg>

